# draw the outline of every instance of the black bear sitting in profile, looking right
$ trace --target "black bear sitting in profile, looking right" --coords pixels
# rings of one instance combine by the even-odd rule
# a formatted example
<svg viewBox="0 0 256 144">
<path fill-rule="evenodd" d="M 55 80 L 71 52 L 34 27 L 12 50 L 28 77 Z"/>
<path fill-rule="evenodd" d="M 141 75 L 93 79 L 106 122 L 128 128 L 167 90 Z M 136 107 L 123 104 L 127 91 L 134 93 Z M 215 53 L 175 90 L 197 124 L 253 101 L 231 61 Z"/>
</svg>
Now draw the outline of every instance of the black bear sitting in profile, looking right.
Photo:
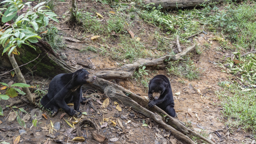
<svg viewBox="0 0 256 144">
<path fill-rule="evenodd" d="M 81 117 L 80 103 L 86 103 L 82 98 L 82 85 L 92 83 L 96 76 L 87 70 L 79 69 L 74 73 L 56 75 L 50 82 L 48 93 L 40 100 L 40 103 L 55 116 L 58 108 L 62 108 L 68 115 Z M 67 104 L 74 103 L 74 109 Z"/>
</svg>

